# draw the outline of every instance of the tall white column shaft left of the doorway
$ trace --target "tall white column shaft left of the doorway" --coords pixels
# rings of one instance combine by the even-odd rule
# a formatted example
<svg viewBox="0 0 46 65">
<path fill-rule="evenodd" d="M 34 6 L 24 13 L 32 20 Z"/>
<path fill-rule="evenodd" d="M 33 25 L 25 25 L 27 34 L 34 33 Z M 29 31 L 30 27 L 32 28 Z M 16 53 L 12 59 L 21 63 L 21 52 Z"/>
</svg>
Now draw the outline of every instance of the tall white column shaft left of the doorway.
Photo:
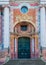
<svg viewBox="0 0 46 65">
<path fill-rule="evenodd" d="M 3 43 L 4 43 L 4 48 L 8 48 L 9 46 L 9 8 L 5 7 L 4 8 L 4 27 L 3 27 Z"/>
</svg>

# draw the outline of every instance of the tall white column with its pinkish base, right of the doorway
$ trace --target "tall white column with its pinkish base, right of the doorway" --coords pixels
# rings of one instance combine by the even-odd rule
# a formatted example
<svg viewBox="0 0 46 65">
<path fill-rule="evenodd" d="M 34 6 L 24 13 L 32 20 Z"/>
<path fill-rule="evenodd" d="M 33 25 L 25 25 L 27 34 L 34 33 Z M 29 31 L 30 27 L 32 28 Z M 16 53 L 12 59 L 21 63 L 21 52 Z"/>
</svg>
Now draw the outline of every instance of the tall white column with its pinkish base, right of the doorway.
<svg viewBox="0 0 46 65">
<path fill-rule="evenodd" d="M 45 7 L 40 10 L 40 38 L 43 58 L 46 59 L 46 21 L 45 21 Z"/>
</svg>

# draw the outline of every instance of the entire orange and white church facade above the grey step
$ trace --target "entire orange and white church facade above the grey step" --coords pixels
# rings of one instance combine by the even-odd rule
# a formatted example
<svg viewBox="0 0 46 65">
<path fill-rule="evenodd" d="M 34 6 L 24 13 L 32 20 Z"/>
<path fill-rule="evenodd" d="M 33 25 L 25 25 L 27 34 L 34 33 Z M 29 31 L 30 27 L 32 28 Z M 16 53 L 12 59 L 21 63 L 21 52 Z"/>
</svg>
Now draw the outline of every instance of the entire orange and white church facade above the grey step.
<svg viewBox="0 0 46 65">
<path fill-rule="evenodd" d="M 39 0 L 0 1 L 0 50 L 11 59 L 46 59 L 46 5 Z M 4 50 L 5 51 L 5 50 Z"/>
</svg>

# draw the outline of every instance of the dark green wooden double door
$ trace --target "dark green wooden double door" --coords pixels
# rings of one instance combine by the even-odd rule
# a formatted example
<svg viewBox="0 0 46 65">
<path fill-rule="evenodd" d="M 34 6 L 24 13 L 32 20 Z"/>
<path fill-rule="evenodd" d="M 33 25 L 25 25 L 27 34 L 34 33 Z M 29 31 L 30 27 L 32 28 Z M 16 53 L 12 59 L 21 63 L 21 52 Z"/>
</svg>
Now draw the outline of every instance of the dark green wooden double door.
<svg viewBox="0 0 46 65">
<path fill-rule="evenodd" d="M 30 58 L 30 38 L 20 37 L 18 39 L 18 58 Z"/>
</svg>

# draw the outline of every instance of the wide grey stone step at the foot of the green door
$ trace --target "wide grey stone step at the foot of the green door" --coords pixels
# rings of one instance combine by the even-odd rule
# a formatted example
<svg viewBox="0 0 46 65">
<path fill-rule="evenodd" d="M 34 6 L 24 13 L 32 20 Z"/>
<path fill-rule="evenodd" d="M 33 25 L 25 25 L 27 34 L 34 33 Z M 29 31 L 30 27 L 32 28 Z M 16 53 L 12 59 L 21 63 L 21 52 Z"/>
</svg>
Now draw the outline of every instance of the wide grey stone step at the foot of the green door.
<svg viewBox="0 0 46 65">
<path fill-rule="evenodd" d="M 4 65 L 45 65 L 45 62 L 43 62 L 40 59 L 17 59 L 17 60 L 9 60 Z"/>
</svg>

